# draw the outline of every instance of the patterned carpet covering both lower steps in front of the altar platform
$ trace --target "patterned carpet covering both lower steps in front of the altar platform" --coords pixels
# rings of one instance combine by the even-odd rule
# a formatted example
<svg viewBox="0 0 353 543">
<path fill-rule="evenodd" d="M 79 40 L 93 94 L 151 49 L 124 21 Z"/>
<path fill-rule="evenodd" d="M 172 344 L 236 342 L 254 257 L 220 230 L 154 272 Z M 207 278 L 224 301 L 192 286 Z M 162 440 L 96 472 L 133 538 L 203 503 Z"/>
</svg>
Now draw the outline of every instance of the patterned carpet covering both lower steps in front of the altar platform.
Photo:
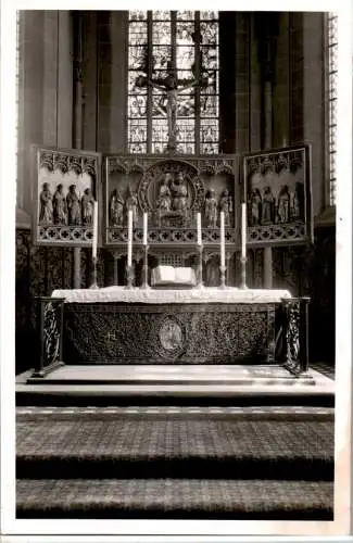
<svg viewBox="0 0 353 543">
<path fill-rule="evenodd" d="M 174 411 L 18 407 L 17 517 L 332 519 L 333 409 Z"/>
</svg>

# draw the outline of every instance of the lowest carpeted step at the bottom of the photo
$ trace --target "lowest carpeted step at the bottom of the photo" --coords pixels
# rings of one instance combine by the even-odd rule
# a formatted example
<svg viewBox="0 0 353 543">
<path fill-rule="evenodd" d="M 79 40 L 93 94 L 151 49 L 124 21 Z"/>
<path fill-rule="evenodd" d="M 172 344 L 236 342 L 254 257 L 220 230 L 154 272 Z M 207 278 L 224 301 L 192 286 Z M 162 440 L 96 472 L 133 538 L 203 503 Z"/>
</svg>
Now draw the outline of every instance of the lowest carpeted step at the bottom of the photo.
<svg viewBox="0 0 353 543">
<path fill-rule="evenodd" d="M 330 481 L 29 479 L 16 490 L 17 518 L 333 520 Z"/>
</svg>

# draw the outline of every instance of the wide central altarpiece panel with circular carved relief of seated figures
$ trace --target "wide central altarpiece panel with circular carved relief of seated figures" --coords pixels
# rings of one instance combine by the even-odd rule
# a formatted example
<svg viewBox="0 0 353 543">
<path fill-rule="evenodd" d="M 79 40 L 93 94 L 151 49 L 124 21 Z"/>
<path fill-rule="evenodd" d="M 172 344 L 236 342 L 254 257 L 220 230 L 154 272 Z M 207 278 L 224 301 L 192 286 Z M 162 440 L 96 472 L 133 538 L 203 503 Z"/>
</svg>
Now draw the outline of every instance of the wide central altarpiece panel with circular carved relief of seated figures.
<svg viewBox="0 0 353 543">
<path fill-rule="evenodd" d="M 197 243 L 201 212 L 203 243 L 219 243 L 219 212 L 225 212 L 226 243 L 235 243 L 234 157 L 105 157 L 105 245 L 127 241 L 127 211 L 134 210 L 134 242 L 142 242 L 148 213 L 150 245 Z"/>
</svg>

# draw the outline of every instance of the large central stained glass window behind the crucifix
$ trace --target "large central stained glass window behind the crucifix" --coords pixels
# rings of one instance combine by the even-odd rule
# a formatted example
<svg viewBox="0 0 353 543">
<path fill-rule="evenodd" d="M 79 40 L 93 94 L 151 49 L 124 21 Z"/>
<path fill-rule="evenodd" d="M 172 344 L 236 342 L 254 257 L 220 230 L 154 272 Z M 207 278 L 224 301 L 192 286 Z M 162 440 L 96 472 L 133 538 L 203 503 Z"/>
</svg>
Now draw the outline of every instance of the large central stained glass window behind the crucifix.
<svg viewBox="0 0 353 543">
<path fill-rule="evenodd" d="M 130 11 L 128 151 L 217 153 L 218 68 L 217 12 Z"/>
</svg>

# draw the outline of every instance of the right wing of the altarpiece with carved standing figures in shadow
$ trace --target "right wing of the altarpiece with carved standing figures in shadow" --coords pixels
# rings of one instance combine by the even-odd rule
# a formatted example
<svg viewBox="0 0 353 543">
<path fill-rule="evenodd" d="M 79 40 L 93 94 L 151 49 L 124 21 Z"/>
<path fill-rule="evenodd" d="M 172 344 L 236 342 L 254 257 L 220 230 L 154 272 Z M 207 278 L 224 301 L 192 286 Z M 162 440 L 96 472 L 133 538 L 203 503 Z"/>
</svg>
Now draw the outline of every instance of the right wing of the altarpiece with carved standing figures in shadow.
<svg viewBox="0 0 353 543">
<path fill-rule="evenodd" d="M 313 240 L 308 146 L 244 157 L 248 243 L 305 243 Z"/>
</svg>

